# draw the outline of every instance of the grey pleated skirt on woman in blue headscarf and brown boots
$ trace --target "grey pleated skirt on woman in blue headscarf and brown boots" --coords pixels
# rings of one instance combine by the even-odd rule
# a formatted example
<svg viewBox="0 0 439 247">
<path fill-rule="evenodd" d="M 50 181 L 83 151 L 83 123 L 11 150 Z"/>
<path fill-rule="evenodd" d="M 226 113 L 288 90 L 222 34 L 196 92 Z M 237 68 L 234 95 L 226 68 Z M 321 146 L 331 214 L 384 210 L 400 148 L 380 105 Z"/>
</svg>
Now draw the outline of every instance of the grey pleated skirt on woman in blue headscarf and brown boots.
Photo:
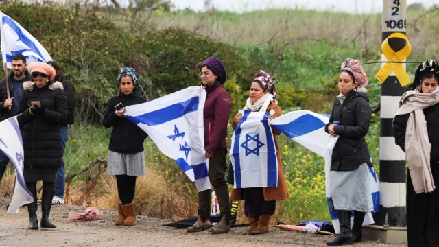
<svg viewBox="0 0 439 247">
<path fill-rule="evenodd" d="M 108 150 L 107 175 L 145 176 L 145 154 L 121 154 Z"/>
</svg>

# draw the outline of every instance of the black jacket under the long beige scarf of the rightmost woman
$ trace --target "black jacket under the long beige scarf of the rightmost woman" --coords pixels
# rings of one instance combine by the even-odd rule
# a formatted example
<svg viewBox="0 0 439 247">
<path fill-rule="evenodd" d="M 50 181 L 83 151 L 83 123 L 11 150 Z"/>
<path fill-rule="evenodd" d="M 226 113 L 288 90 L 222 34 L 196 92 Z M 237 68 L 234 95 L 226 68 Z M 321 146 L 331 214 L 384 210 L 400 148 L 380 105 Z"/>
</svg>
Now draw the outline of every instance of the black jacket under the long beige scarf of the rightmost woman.
<svg viewBox="0 0 439 247">
<path fill-rule="evenodd" d="M 405 129 L 409 114 L 397 115 L 393 119 L 393 131 L 396 145 L 405 152 Z M 428 139 L 431 144 L 430 166 L 439 168 L 439 104 L 424 109 L 425 121 L 427 121 Z M 436 169 L 438 169 L 436 168 Z"/>
</svg>

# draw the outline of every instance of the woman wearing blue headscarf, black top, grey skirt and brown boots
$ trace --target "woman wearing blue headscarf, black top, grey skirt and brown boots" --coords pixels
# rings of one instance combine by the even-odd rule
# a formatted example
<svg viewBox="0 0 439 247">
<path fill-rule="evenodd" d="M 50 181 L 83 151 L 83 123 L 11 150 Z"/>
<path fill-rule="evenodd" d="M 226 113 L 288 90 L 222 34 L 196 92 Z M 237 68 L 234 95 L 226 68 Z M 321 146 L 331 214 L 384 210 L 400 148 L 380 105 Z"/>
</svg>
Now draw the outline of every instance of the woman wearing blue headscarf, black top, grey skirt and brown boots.
<svg viewBox="0 0 439 247">
<path fill-rule="evenodd" d="M 104 126 L 112 127 L 107 174 L 116 176 L 117 192 L 121 200 L 118 204 L 119 217 L 115 220 L 117 226 L 134 225 L 136 217 L 132 200 L 136 178 L 145 176 L 143 141 L 147 134 L 123 115 L 125 106 L 146 102 L 146 99 L 137 95 L 138 86 L 137 72 L 132 68 L 122 68 L 117 74 L 119 95 L 110 99 L 104 115 Z"/>
</svg>

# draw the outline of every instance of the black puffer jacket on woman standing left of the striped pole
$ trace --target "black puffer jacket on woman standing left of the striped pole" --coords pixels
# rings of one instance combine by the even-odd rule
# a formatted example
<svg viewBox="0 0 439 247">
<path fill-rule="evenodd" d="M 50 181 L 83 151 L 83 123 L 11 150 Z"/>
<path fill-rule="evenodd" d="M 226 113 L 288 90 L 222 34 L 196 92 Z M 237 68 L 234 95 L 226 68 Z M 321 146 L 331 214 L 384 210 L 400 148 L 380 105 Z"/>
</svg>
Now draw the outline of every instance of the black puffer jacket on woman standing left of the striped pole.
<svg viewBox="0 0 439 247">
<path fill-rule="evenodd" d="M 340 121 L 340 124 L 334 127 L 335 134 L 340 137 L 332 152 L 331 171 L 353 171 L 363 163 L 372 165 L 368 144 L 364 139 L 371 118 L 366 94 L 351 91 L 346 95 L 343 105 L 335 97 L 329 124 Z M 324 128 L 326 132 L 329 124 Z"/>
</svg>

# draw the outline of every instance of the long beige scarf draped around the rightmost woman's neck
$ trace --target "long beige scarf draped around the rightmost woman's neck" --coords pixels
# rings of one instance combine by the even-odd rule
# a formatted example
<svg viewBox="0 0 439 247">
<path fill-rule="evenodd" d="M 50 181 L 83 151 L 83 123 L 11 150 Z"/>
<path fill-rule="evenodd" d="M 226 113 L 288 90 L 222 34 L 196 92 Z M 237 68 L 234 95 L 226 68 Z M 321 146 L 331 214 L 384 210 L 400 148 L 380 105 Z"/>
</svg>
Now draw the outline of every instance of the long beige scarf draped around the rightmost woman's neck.
<svg viewBox="0 0 439 247">
<path fill-rule="evenodd" d="M 430 193 L 435 189 L 430 167 L 431 144 L 423 110 L 439 103 L 438 89 L 433 93 L 419 93 L 418 89 L 405 92 L 396 113 L 410 113 L 405 129 L 405 155 L 416 193 Z"/>
</svg>

